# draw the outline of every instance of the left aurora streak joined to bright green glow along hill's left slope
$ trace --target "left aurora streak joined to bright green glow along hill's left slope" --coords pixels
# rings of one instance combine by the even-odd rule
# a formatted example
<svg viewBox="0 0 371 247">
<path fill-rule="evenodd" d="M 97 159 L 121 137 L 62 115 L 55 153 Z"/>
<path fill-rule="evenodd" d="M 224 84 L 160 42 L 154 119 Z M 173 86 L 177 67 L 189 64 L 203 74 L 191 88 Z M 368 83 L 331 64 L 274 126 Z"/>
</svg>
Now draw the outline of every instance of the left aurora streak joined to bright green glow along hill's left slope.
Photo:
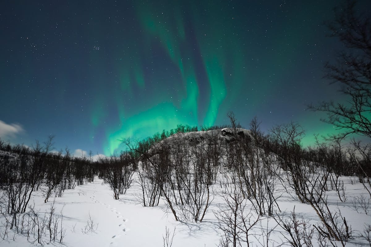
<svg viewBox="0 0 371 247">
<path fill-rule="evenodd" d="M 137 112 L 125 110 L 125 107 L 119 106 L 121 103 L 117 103 L 120 124 L 106 130 L 107 139 L 104 143 L 104 153 L 107 155 L 119 150 L 120 140 L 123 138 L 152 136 L 162 129 L 175 128 L 177 124 L 198 125 L 199 89 L 194 63 L 190 57 L 187 59 L 184 57 L 188 51 L 180 49 L 181 45 L 187 46 L 183 21 L 179 14 L 181 11 L 175 10 L 174 12 L 178 14 L 171 16 L 172 18 L 165 18 L 156 12 L 154 6 L 141 6 L 140 10 L 137 14 L 144 32 L 145 42 L 149 47 L 156 45 L 156 43 L 161 44 L 168 59 L 178 68 L 180 81 L 173 82 L 173 87 L 177 89 L 173 95 L 167 95 L 164 91 L 159 90 L 153 92 L 154 95 L 151 99 L 146 99 L 149 100 L 148 104 L 138 102 L 138 109 L 142 110 L 138 111 L 137 109 Z M 137 56 L 137 53 L 133 53 L 131 56 Z M 149 82 L 143 76 L 143 71 L 138 69 L 144 62 L 143 59 L 146 58 L 139 56 L 134 59 L 132 66 L 124 63 L 123 67 L 118 68 L 121 71 L 121 93 L 132 94 L 135 90 L 139 90 L 139 93 L 140 90 L 153 90 L 150 89 L 152 85 L 148 84 Z M 159 79 L 152 79 L 152 83 L 156 83 L 156 80 Z M 136 84 L 133 84 L 132 81 L 135 81 Z M 135 85 L 137 85 L 137 89 L 135 89 Z M 139 98 L 133 100 L 140 101 Z"/>
</svg>

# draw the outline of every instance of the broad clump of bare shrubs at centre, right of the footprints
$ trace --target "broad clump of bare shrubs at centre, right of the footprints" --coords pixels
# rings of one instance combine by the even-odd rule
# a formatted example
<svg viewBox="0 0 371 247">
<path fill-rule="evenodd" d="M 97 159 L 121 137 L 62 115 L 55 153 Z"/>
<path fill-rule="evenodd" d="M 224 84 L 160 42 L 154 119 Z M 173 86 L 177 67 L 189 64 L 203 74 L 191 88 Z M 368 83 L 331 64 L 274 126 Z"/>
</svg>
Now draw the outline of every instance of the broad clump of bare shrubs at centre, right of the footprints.
<svg viewBox="0 0 371 247">
<path fill-rule="evenodd" d="M 213 140 L 206 147 L 177 148 L 163 140 L 149 144 L 143 150 L 141 143 L 128 147 L 139 153 L 138 177 L 143 206 L 157 206 L 163 198 L 175 220 L 202 221 L 211 203 L 210 186 L 215 183 L 219 154 Z M 213 148 L 213 151 L 210 150 Z"/>
</svg>

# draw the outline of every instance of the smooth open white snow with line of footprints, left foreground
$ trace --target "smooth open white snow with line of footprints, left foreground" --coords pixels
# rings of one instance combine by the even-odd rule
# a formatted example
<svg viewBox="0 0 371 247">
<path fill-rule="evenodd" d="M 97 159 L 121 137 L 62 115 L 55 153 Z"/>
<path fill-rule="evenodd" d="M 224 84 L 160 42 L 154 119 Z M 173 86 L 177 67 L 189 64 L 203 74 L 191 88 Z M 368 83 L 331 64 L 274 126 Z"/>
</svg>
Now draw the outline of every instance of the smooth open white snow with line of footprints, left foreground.
<svg viewBox="0 0 371 247">
<path fill-rule="evenodd" d="M 133 184 L 125 195 L 121 195 L 120 200 L 114 200 L 109 187 L 103 180 L 96 179 L 73 190 L 66 190 L 62 197 L 50 198 L 47 203 L 37 193 L 32 200 L 35 208 L 40 208 L 41 212 L 48 212 L 54 203 L 56 213 L 63 215 L 66 236 L 61 246 L 163 246 L 165 227 L 171 230 L 171 234 L 176 227 L 174 247 L 214 246 L 219 231 L 212 212 L 210 220 L 202 224 L 176 222 L 164 204 L 158 207 L 142 207 L 138 204 L 138 186 Z M 89 215 L 96 230 L 85 234 L 82 231 L 88 224 Z M 0 231 L 2 228 L 4 226 L 0 226 Z M 30 246 L 26 237 L 15 235 L 13 240 L 13 235 L 9 232 L 8 239 L 1 240 L 0 245 Z"/>
</svg>

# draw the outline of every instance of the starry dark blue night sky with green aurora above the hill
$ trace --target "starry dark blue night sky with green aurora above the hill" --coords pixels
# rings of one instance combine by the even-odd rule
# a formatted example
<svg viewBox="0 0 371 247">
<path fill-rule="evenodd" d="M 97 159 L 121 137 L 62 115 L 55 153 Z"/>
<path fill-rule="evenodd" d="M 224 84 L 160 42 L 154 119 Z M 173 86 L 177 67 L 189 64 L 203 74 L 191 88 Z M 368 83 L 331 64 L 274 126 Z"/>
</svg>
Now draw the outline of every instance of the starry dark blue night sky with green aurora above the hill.
<svg viewBox="0 0 371 247">
<path fill-rule="evenodd" d="M 324 26 L 341 3 L 6 1 L 0 138 L 32 146 L 55 135 L 56 150 L 109 155 L 119 139 L 228 124 L 233 111 L 265 131 L 298 121 L 311 144 L 334 126 L 307 104 L 345 100 L 323 79 L 344 49 Z"/>
</svg>

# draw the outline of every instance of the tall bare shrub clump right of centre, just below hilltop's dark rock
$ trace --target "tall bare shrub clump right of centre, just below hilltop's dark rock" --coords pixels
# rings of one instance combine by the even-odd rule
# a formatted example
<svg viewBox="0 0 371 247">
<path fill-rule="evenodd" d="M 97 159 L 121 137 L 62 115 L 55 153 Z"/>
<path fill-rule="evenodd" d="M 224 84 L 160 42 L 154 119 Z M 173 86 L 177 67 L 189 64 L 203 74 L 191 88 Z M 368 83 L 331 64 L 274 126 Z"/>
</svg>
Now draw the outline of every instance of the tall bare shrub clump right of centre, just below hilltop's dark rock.
<svg viewBox="0 0 371 247">
<path fill-rule="evenodd" d="M 269 163 L 272 157 L 262 148 L 266 136 L 260 131 L 257 119 L 250 123 L 250 135 L 235 134 L 234 139 L 227 144 L 227 167 L 237 177 L 243 198 L 251 201 L 256 213 L 272 216 L 273 207 L 278 206 L 275 195 L 278 179 L 273 162 Z"/>
</svg>

